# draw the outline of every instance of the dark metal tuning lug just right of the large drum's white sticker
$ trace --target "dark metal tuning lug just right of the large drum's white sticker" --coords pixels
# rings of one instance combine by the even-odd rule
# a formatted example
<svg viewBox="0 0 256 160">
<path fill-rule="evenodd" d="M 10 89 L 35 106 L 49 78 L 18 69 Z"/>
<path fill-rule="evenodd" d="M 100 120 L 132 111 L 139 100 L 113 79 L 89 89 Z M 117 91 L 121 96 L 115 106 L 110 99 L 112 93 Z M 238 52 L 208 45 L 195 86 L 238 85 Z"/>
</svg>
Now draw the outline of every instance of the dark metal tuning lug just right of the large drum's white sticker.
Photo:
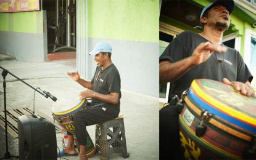
<svg viewBox="0 0 256 160">
<path fill-rule="evenodd" d="M 212 114 L 209 113 L 206 110 L 203 110 L 201 113 L 201 121 L 196 126 L 196 135 L 197 137 L 202 137 L 205 134 L 205 131 L 207 129 L 207 126 L 204 125 L 205 121 L 209 121 L 209 119 L 212 117 Z"/>
</svg>

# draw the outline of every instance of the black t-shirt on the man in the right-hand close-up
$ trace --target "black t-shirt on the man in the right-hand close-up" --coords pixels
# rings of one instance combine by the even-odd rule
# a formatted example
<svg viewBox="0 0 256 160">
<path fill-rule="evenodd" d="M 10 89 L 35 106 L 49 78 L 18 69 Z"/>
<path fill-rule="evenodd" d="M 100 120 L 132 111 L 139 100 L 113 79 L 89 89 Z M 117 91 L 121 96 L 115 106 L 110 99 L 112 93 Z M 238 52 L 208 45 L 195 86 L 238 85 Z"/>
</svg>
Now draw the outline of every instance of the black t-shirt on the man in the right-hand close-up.
<svg viewBox="0 0 256 160">
<path fill-rule="evenodd" d="M 171 63 L 178 62 L 190 57 L 200 43 L 207 41 L 199 34 L 184 31 L 170 42 L 160 56 L 160 60 L 168 59 Z M 180 95 L 189 88 L 194 79 L 205 78 L 223 82 L 223 78 L 228 78 L 229 81 L 252 81 L 252 74 L 237 50 L 228 47 L 226 53 L 221 54 L 223 62 L 217 60 L 217 54 L 214 52 L 206 62 L 194 66 L 181 78 L 171 82 L 170 96 Z"/>
</svg>

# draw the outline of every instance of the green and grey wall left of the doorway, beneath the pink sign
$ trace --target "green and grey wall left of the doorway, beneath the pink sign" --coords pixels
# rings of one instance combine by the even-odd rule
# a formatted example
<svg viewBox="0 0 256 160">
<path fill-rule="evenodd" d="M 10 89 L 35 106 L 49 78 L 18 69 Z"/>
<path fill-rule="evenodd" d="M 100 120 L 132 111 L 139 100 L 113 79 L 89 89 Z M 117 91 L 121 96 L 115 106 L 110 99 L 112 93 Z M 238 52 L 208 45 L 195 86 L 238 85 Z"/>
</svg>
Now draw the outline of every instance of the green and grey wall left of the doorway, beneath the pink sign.
<svg viewBox="0 0 256 160">
<path fill-rule="evenodd" d="M 0 52 L 19 61 L 44 62 L 43 11 L 0 14 Z"/>
</svg>

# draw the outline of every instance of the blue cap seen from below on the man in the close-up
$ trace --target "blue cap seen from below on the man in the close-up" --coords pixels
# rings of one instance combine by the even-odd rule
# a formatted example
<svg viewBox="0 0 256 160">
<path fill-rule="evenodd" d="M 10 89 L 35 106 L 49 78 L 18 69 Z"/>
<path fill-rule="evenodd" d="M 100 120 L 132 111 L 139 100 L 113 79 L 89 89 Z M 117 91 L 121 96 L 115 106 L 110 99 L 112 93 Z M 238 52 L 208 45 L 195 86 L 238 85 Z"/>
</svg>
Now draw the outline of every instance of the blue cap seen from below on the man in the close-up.
<svg viewBox="0 0 256 160">
<path fill-rule="evenodd" d="M 200 19 L 203 17 L 206 10 L 210 9 L 215 4 L 221 4 L 222 6 L 225 6 L 228 10 L 229 14 L 234 10 L 234 1 L 233 0 L 217 0 L 210 4 L 207 4 L 204 9 L 201 12 Z"/>
</svg>

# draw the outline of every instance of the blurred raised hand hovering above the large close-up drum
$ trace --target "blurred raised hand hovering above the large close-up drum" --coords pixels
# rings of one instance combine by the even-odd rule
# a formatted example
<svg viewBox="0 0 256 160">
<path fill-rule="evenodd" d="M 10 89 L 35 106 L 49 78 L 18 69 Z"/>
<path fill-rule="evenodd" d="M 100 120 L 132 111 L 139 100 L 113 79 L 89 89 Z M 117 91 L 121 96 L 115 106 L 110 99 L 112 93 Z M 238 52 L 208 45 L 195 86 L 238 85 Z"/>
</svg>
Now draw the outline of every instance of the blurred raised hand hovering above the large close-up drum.
<svg viewBox="0 0 256 160">
<path fill-rule="evenodd" d="M 191 60 L 194 65 L 199 65 L 209 59 L 213 52 L 225 53 L 226 47 L 220 44 L 212 44 L 210 42 L 205 42 L 199 44 L 196 47 L 193 54 L 191 55 Z"/>
</svg>

